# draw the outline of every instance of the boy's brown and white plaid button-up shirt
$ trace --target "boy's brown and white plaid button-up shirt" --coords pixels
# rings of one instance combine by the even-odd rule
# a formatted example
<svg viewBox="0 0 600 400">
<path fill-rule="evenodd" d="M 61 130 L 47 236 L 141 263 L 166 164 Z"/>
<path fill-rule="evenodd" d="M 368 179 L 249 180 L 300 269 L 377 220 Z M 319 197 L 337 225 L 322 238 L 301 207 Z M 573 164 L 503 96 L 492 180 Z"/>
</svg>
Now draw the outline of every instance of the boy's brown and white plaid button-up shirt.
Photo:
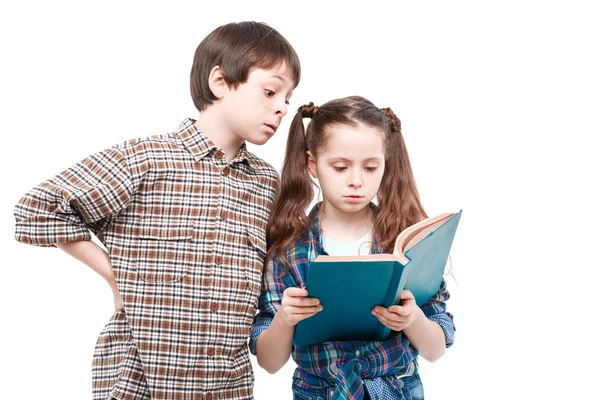
<svg viewBox="0 0 600 400">
<path fill-rule="evenodd" d="M 92 155 L 15 207 L 23 243 L 92 231 L 108 249 L 125 310 L 98 339 L 94 399 L 252 398 L 247 339 L 277 172 L 245 144 L 227 163 L 194 122 Z"/>
</svg>

